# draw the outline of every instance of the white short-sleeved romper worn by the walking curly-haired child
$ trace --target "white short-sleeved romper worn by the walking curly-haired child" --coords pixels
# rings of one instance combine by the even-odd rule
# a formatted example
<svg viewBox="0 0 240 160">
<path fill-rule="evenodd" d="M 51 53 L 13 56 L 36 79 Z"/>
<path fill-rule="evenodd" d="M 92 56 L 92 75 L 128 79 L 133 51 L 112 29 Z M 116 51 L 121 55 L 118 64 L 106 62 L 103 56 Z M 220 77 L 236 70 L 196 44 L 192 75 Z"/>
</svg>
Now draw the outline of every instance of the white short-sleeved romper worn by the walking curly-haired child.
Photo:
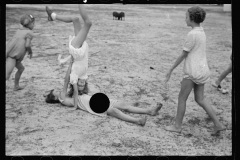
<svg viewBox="0 0 240 160">
<path fill-rule="evenodd" d="M 184 61 L 184 78 L 196 84 L 206 83 L 210 71 L 206 58 L 206 35 L 202 27 L 194 27 L 188 33 L 183 50 L 189 52 Z"/>
</svg>

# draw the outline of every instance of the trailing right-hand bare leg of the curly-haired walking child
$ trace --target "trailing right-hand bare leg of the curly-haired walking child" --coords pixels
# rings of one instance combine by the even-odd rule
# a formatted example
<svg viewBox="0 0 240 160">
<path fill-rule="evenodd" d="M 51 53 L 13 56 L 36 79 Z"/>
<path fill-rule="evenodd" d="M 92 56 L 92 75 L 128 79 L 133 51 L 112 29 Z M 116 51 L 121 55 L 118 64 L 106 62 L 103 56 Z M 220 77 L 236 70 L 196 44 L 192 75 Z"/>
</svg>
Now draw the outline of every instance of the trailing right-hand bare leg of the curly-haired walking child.
<svg viewBox="0 0 240 160">
<path fill-rule="evenodd" d="M 214 132 L 216 133 L 221 130 L 224 130 L 225 127 L 218 121 L 217 116 L 213 111 L 213 108 L 204 99 L 204 84 L 194 85 L 194 96 L 195 96 L 195 101 L 207 112 L 207 114 L 212 119 L 214 123 Z"/>
</svg>

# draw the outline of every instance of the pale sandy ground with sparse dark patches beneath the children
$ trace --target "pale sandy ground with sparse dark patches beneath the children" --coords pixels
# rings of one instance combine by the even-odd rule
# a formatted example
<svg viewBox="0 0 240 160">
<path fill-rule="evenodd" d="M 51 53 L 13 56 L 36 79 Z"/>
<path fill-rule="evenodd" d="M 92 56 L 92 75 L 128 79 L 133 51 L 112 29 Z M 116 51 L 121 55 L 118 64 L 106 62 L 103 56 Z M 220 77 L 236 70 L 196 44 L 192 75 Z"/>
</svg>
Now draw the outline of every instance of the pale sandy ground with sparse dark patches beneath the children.
<svg viewBox="0 0 240 160">
<path fill-rule="evenodd" d="M 79 16 L 75 5 L 51 6 L 58 14 Z M 167 102 L 161 96 L 162 80 L 181 54 L 183 41 L 191 30 L 185 24 L 188 7 L 86 5 L 93 22 L 87 39 L 91 93 L 139 102 L 139 107 L 145 108 L 154 107 L 157 102 L 164 104 L 158 116 L 147 116 L 146 125 L 140 127 L 45 103 L 45 91 L 63 86 L 68 65 L 60 67 L 57 56 L 68 55 L 72 24 L 47 21 L 45 5 L 7 5 L 6 39 L 13 36 L 23 14 L 36 17 L 34 32 L 38 36 L 32 40 L 33 58 L 23 61 L 26 69 L 20 84 L 26 88 L 13 91 L 16 69 L 6 83 L 6 155 L 232 155 L 232 94 L 221 94 L 210 82 L 205 85 L 205 97 L 222 111 L 217 117 L 230 129 L 211 136 L 213 123 L 194 101 L 192 92 L 182 133 L 164 130 L 176 114 L 183 65 L 171 76 Z M 202 26 L 207 35 L 207 58 L 211 78 L 216 79 L 230 63 L 231 15 L 218 6 L 204 7 L 207 17 Z M 113 11 L 124 11 L 125 21 L 112 20 Z M 231 91 L 232 74 L 222 86 Z"/>
</svg>

